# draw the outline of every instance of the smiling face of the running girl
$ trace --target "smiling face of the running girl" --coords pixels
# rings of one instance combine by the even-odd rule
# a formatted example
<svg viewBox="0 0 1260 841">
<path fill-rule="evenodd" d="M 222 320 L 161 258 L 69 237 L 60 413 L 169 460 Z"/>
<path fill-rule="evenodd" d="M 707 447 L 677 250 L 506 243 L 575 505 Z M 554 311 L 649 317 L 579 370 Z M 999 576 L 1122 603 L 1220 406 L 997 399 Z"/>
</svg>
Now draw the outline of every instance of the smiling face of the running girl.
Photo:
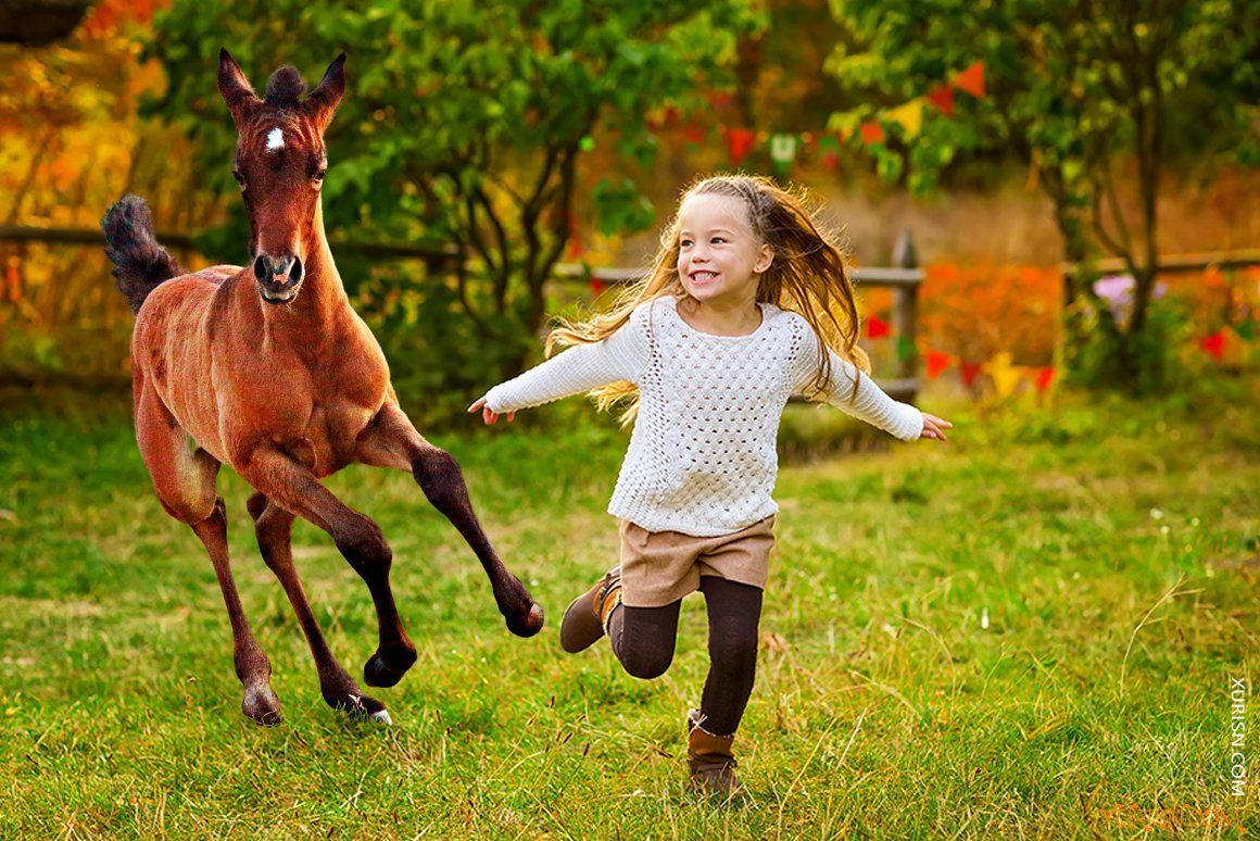
<svg viewBox="0 0 1260 841">
<path fill-rule="evenodd" d="M 775 251 L 748 226 L 745 202 L 689 195 L 678 211 L 678 277 L 701 303 L 735 305 L 757 299 L 761 272 Z"/>
</svg>

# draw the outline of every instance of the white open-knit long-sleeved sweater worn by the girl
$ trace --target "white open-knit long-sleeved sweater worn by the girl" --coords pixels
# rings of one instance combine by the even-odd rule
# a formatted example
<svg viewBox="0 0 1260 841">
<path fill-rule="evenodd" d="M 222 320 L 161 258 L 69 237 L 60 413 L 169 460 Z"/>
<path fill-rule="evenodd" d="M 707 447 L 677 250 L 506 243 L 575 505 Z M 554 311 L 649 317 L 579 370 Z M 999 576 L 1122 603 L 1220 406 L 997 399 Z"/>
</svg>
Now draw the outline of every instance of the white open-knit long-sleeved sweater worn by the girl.
<svg viewBox="0 0 1260 841">
<path fill-rule="evenodd" d="M 779 511 L 770 496 L 779 421 L 788 398 L 813 381 L 819 358 L 818 335 L 804 318 L 759 306 L 753 333 L 711 335 L 687 324 L 673 298 L 658 298 L 605 340 L 570 348 L 495 386 L 486 405 L 501 414 L 633 382 L 639 416 L 609 513 L 651 532 L 740 531 Z M 917 409 L 892 400 L 834 353 L 830 359 L 827 402 L 900 439 L 920 436 Z M 861 385 L 849 402 L 856 376 Z"/>
</svg>

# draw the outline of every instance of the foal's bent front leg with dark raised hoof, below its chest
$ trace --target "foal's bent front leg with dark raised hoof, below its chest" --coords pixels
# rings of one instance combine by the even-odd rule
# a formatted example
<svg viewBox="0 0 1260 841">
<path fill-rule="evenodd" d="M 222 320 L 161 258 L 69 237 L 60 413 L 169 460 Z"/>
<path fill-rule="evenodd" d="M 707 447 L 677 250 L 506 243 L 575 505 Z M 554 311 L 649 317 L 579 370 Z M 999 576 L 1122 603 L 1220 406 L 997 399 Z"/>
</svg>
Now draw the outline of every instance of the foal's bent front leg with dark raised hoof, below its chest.
<svg viewBox="0 0 1260 841">
<path fill-rule="evenodd" d="M 416 662 L 389 588 L 393 554 L 381 527 L 325 488 L 315 474 L 280 450 L 260 446 L 241 474 L 267 499 L 331 535 L 336 548 L 368 585 L 377 608 L 379 643 L 363 678 L 369 686 L 393 686 Z"/>
</svg>

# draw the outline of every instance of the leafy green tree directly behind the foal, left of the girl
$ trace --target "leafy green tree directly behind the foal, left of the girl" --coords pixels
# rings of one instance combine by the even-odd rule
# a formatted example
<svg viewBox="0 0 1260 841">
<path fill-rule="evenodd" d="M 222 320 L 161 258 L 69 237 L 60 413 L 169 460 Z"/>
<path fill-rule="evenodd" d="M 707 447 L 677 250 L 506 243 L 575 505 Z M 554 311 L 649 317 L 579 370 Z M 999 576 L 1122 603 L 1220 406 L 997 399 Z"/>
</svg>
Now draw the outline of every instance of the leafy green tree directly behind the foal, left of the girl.
<svg viewBox="0 0 1260 841">
<path fill-rule="evenodd" d="M 701 95 L 727 81 L 738 34 L 757 25 L 750 6 L 175 0 L 149 45 L 170 78 L 155 112 L 198 139 L 217 189 L 234 189 L 234 135 L 210 57 L 227 45 L 261 86 L 281 63 L 311 72 L 345 49 L 349 93 L 330 129 L 324 188 L 329 228 L 454 247 L 444 294 L 505 376 L 523 367 L 541 328 L 583 149 L 598 130 L 622 155 L 650 158 L 644 116 L 667 101 L 699 108 Z M 602 227 L 636 218 L 626 213 L 643 200 L 633 185 L 590 187 Z"/>
</svg>

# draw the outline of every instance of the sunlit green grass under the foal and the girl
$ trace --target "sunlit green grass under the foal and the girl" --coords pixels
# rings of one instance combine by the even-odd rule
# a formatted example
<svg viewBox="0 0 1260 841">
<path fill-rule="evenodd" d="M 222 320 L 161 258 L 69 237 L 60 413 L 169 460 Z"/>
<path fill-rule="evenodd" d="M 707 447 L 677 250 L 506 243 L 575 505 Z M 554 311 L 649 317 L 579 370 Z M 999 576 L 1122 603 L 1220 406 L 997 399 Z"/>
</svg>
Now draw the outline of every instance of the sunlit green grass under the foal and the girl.
<svg viewBox="0 0 1260 841">
<path fill-rule="evenodd" d="M 1240 391 L 1237 387 L 1234 391 Z M 161 513 L 125 410 L 0 421 L 0 836 L 1147 836 L 1260 830 L 1260 730 L 1230 796 L 1228 688 L 1260 666 L 1254 393 L 968 411 L 951 443 L 786 467 L 750 794 L 683 786 L 703 605 L 678 657 L 627 677 L 561 652 L 568 600 L 615 560 L 625 439 L 580 425 L 438 443 L 548 610 L 512 637 L 454 530 L 403 474 L 330 480 L 394 548 L 415 670 L 393 728 L 326 709 L 229 470 L 237 583 L 286 721 L 239 712 L 210 564 Z M 813 412 L 813 414 L 811 414 Z M 819 419 L 823 419 L 822 421 Z M 785 438 L 832 419 L 794 412 Z M 801 430 L 806 430 L 803 432 Z M 374 649 L 330 540 L 295 552 L 334 652 Z"/>
</svg>

